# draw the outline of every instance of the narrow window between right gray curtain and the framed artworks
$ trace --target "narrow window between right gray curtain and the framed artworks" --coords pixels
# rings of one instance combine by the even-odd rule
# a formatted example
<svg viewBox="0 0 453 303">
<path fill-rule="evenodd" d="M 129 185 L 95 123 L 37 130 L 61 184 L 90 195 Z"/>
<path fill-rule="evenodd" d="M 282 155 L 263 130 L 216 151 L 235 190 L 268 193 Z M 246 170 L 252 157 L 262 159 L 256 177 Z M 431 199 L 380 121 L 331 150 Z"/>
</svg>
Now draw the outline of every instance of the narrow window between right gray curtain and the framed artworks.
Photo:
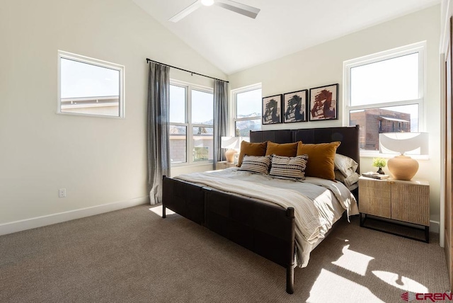
<svg viewBox="0 0 453 303">
<path fill-rule="evenodd" d="M 261 84 L 239 88 L 232 93 L 234 134 L 249 137 L 251 130 L 261 130 Z"/>
</svg>

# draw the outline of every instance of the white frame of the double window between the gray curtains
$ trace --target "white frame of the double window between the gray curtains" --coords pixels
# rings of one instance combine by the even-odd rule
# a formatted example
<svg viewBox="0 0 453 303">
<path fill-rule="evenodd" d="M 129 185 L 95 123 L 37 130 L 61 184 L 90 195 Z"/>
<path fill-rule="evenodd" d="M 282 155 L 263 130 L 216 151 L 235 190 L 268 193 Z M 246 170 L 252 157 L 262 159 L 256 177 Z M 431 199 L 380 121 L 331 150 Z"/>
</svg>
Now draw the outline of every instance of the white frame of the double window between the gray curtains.
<svg viewBox="0 0 453 303">
<path fill-rule="evenodd" d="M 176 125 L 176 126 L 184 126 L 186 127 L 186 144 L 185 144 L 185 162 L 176 162 L 171 163 L 171 167 L 179 167 L 179 166 L 197 166 L 197 165 L 206 165 L 212 164 L 214 160 L 206 160 L 206 161 L 193 161 L 193 156 L 191 156 L 190 151 L 193 150 L 193 127 L 212 127 L 214 130 L 214 112 L 212 113 L 212 125 L 202 125 L 202 124 L 193 124 L 192 123 L 192 91 L 202 91 L 205 93 L 212 93 L 212 105 L 214 105 L 214 88 L 201 86 L 199 84 L 191 84 L 185 81 L 180 81 L 176 79 L 170 79 L 171 86 L 179 86 L 185 88 L 185 122 L 171 122 L 168 121 L 168 125 Z M 171 101 L 170 101 L 171 102 Z M 212 134 L 212 139 L 214 139 L 214 132 Z M 214 142 L 213 142 L 214 144 Z"/>
</svg>

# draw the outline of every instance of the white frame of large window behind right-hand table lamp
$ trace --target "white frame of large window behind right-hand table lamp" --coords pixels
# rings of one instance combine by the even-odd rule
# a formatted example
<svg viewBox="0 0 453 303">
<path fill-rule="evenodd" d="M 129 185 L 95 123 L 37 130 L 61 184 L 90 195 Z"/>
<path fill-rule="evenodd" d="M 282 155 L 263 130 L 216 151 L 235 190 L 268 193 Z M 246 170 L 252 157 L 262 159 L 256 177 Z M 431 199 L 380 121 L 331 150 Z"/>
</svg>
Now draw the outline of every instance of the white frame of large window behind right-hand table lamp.
<svg viewBox="0 0 453 303">
<path fill-rule="evenodd" d="M 365 64 L 394 59 L 404 55 L 418 53 L 418 98 L 412 100 L 391 101 L 386 103 L 374 103 L 368 105 L 351 105 L 351 69 Z M 413 43 L 403 47 L 397 47 L 384 52 L 350 59 L 343 62 L 343 126 L 350 125 L 351 110 L 365 110 L 370 108 L 389 108 L 398 105 L 418 105 L 418 132 L 425 131 L 425 96 L 426 96 L 426 41 Z M 389 155 L 380 154 L 379 151 L 360 150 L 360 156 L 375 157 Z"/>
</svg>

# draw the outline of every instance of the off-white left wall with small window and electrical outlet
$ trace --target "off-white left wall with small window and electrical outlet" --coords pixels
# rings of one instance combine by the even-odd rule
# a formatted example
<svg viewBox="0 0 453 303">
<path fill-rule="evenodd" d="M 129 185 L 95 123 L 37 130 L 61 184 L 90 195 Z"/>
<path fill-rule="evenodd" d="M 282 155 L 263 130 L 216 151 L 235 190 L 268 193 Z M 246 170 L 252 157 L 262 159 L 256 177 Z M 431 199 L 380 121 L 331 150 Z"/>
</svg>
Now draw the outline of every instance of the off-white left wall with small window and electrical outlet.
<svg viewBox="0 0 453 303">
<path fill-rule="evenodd" d="M 130 0 L 2 1 L 0 38 L 0 229 L 147 201 L 147 57 L 226 79 Z M 125 119 L 56 114 L 57 50 L 125 66 Z"/>
</svg>

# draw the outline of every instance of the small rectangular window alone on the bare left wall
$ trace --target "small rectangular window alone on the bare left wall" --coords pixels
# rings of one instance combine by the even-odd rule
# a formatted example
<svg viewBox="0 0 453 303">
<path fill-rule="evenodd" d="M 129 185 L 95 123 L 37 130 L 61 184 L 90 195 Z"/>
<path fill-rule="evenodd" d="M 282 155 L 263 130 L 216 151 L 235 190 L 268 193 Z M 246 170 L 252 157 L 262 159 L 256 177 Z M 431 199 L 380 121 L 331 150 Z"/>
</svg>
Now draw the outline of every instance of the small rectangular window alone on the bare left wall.
<svg viewBox="0 0 453 303">
<path fill-rule="evenodd" d="M 124 70 L 59 51 L 57 113 L 124 117 Z"/>
</svg>

